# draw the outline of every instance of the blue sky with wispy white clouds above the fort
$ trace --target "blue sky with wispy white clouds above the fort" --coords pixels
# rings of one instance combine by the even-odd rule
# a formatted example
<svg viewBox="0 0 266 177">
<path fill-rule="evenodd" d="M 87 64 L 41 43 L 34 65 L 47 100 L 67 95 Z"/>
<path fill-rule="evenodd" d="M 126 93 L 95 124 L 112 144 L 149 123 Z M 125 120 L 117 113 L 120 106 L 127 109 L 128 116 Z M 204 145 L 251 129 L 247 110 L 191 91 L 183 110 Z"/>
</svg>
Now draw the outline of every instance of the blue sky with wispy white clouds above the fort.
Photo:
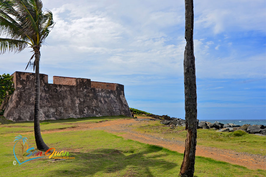
<svg viewBox="0 0 266 177">
<path fill-rule="evenodd" d="M 194 1 L 198 119 L 265 119 L 265 0 Z M 43 0 L 40 73 L 124 85 L 129 107 L 184 118 L 184 1 Z M 0 56 L 24 71 L 30 49 Z M 33 72 L 27 70 L 27 72 Z"/>
</svg>

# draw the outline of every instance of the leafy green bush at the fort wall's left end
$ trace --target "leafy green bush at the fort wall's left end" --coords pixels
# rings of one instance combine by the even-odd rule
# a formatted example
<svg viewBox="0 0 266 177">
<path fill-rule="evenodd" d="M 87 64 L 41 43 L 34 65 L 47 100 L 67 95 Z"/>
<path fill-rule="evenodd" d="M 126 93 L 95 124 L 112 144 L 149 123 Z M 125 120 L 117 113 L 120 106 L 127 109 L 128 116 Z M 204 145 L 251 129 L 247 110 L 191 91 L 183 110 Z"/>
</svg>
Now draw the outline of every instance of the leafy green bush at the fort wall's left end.
<svg viewBox="0 0 266 177">
<path fill-rule="evenodd" d="M 9 74 L 0 75 L 0 105 L 8 95 L 11 95 L 15 91 L 12 78 L 13 76 Z M 4 110 L 1 109 L 0 115 L 3 115 L 3 113 Z"/>
</svg>

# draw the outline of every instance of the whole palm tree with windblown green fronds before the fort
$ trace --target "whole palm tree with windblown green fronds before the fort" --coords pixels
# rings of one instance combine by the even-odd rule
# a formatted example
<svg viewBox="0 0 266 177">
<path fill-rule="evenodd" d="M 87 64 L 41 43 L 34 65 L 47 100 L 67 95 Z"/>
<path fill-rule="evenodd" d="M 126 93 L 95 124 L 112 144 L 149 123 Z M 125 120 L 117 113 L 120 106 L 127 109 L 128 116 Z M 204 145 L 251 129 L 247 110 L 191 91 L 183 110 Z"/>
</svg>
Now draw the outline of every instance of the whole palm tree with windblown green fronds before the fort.
<svg viewBox="0 0 266 177">
<path fill-rule="evenodd" d="M 0 51 L 21 52 L 27 46 L 33 48 L 30 65 L 35 69 L 35 102 L 34 102 L 34 134 L 37 149 L 47 150 L 40 133 L 40 47 L 53 28 L 53 14 L 42 11 L 40 0 L 0 0 Z M 35 60 L 32 62 L 33 57 Z M 26 67 L 26 69 L 27 69 Z"/>
</svg>

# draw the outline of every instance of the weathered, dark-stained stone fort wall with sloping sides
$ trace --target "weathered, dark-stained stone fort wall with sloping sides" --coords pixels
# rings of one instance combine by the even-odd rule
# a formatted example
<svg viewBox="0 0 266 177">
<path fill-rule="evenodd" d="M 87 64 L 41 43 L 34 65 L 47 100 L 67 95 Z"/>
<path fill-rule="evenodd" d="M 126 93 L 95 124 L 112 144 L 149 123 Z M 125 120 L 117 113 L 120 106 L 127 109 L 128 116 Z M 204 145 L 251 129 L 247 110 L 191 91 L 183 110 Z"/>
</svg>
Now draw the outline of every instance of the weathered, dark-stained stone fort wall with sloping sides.
<svg viewBox="0 0 266 177">
<path fill-rule="evenodd" d="M 16 90 L 4 105 L 4 116 L 13 121 L 33 121 L 35 73 L 16 71 L 12 76 Z M 93 88 L 90 79 L 54 78 L 53 83 L 61 84 L 49 84 L 48 76 L 40 74 L 40 120 L 115 115 L 131 117 L 123 85 L 110 83 L 112 89 L 102 89 Z"/>
</svg>

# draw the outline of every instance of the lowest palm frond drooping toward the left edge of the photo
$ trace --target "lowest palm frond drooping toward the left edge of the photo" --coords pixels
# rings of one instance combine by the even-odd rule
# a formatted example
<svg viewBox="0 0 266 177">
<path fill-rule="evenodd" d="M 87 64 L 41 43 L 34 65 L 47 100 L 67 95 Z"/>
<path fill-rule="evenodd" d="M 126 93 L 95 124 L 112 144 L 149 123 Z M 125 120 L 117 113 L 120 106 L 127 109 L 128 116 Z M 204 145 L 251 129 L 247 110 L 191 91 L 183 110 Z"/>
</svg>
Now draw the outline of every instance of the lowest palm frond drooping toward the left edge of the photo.
<svg viewBox="0 0 266 177">
<path fill-rule="evenodd" d="M 22 40 L 0 38 L 0 53 L 21 52 L 28 46 L 28 43 Z"/>
</svg>

